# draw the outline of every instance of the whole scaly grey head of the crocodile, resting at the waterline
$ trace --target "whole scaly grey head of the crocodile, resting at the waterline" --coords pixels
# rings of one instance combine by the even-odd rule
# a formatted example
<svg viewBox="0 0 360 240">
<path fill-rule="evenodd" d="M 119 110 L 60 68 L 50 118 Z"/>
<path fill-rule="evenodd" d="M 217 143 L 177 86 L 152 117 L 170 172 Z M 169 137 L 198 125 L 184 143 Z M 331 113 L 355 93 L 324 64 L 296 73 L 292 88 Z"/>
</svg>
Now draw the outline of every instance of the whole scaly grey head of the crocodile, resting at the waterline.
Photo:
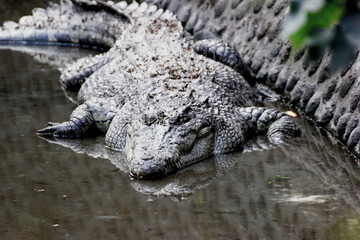
<svg viewBox="0 0 360 240">
<path fill-rule="evenodd" d="M 211 118 L 191 108 L 172 115 L 148 111 L 128 121 L 124 135 L 123 152 L 134 178 L 163 177 L 214 152 Z"/>
</svg>

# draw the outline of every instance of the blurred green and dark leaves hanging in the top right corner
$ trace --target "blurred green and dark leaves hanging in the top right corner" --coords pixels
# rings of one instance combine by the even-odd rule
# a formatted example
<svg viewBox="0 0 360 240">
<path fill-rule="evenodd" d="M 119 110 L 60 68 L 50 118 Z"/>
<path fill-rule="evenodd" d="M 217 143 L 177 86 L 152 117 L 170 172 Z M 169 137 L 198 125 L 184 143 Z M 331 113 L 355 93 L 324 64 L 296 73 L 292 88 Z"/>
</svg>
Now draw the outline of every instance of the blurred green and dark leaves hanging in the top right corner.
<svg viewBox="0 0 360 240">
<path fill-rule="evenodd" d="M 360 46 L 360 11 L 356 0 L 294 0 L 282 35 L 294 49 L 308 47 L 308 58 L 332 52 L 333 72 L 346 67 Z"/>
</svg>

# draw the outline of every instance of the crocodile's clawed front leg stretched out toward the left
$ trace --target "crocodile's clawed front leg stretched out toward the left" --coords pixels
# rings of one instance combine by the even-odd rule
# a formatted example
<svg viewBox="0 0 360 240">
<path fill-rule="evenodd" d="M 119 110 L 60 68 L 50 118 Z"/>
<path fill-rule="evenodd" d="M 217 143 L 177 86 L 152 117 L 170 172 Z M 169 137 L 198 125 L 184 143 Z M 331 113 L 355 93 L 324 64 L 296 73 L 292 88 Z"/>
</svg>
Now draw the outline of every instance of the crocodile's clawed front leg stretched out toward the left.
<svg viewBox="0 0 360 240">
<path fill-rule="evenodd" d="M 94 119 L 86 104 L 78 106 L 63 123 L 49 123 L 49 127 L 37 131 L 39 135 L 53 135 L 61 138 L 78 138 L 93 125 Z"/>
</svg>

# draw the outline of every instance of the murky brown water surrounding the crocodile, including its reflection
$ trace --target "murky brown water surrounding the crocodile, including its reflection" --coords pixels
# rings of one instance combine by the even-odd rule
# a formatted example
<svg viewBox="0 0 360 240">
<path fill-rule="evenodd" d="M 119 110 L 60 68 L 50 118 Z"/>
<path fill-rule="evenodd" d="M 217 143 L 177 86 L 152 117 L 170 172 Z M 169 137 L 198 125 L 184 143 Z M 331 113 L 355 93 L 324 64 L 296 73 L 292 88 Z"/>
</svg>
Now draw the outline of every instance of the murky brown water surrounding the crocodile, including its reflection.
<svg viewBox="0 0 360 240">
<path fill-rule="evenodd" d="M 43 1 L 0 2 L 2 22 Z M 60 50 L 64 59 L 87 54 Z M 1 239 L 360 236 L 359 168 L 306 119 L 298 119 L 306 140 L 299 146 L 266 149 L 259 139 L 248 144 L 251 151 L 216 156 L 163 180 L 130 180 L 103 137 L 52 143 L 36 136 L 75 107 L 59 75 L 29 54 L 0 50 Z"/>
</svg>

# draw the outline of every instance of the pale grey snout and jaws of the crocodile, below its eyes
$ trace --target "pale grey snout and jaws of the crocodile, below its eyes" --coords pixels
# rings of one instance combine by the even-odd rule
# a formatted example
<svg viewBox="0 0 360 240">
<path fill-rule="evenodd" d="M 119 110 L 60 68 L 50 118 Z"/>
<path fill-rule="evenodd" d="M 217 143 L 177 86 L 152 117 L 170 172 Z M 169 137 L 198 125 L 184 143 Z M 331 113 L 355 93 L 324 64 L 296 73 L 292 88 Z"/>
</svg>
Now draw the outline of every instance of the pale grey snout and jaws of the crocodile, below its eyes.
<svg viewBox="0 0 360 240">
<path fill-rule="evenodd" d="M 214 132 L 197 136 L 194 132 L 183 138 L 176 130 L 164 126 L 136 131 L 127 137 L 124 148 L 130 175 L 139 179 L 161 178 L 211 156 Z"/>
</svg>

